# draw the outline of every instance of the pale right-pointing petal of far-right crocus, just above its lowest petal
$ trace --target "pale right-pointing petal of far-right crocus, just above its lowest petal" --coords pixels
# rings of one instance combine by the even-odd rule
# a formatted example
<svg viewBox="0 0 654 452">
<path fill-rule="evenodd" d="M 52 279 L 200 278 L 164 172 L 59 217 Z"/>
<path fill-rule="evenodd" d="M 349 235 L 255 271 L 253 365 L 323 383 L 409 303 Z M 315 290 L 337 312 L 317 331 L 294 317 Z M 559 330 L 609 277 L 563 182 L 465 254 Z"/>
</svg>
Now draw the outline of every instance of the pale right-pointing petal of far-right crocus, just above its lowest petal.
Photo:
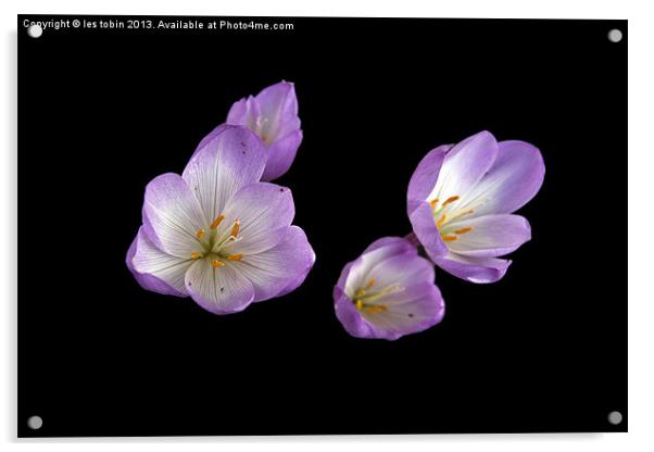
<svg viewBox="0 0 654 452">
<path fill-rule="evenodd" d="M 531 227 L 527 218 L 519 215 L 483 215 L 462 219 L 447 226 L 448 230 L 473 230 L 458 235 L 449 242 L 450 251 L 470 258 L 496 258 L 517 250 L 531 238 Z"/>
</svg>

